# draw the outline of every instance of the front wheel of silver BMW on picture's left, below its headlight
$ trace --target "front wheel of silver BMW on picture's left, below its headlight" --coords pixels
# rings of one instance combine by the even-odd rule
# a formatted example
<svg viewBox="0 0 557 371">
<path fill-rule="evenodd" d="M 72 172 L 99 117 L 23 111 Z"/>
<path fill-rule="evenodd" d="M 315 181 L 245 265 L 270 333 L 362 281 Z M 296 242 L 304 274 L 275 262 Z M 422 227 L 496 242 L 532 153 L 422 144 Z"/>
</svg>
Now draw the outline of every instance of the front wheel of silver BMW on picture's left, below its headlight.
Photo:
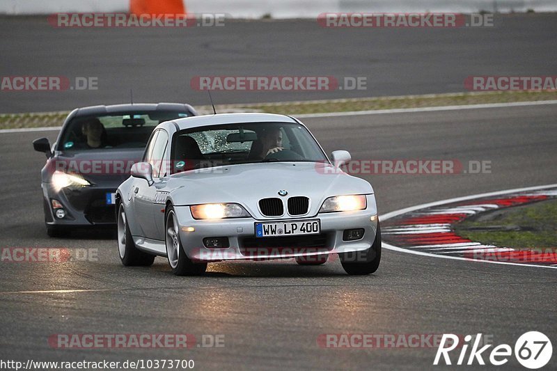
<svg viewBox="0 0 557 371">
<path fill-rule="evenodd" d="M 166 256 L 173 274 L 176 276 L 199 276 L 205 273 L 207 263 L 191 261 L 182 247 L 180 240 L 180 226 L 174 212 L 174 207 L 166 207 Z"/>
</svg>

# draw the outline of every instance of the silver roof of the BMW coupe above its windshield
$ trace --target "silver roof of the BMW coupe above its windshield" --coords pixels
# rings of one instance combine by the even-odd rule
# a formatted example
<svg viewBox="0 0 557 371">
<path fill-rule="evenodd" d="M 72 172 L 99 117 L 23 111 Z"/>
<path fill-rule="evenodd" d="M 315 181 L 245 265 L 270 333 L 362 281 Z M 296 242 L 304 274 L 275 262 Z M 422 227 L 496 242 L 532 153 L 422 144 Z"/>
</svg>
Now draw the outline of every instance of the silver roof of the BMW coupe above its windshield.
<svg viewBox="0 0 557 371">
<path fill-rule="evenodd" d="M 209 125 L 237 124 L 237 123 L 295 123 L 299 122 L 290 116 L 275 113 L 218 113 L 216 115 L 191 116 L 173 120 L 183 129 Z"/>
</svg>

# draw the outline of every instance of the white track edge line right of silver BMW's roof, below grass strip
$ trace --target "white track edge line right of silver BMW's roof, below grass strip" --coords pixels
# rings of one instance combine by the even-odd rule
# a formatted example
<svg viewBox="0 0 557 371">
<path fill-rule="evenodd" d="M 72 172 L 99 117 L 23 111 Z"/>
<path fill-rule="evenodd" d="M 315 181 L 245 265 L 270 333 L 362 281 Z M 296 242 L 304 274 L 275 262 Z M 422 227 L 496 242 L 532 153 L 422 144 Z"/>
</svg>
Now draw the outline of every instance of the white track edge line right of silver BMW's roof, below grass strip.
<svg viewBox="0 0 557 371">
<path fill-rule="evenodd" d="M 296 118 L 317 118 L 335 116 L 361 116 L 361 115 L 382 115 L 385 113 L 415 113 L 415 112 L 435 112 L 435 111 L 457 111 L 460 109 L 485 109 L 485 108 L 505 108 L 520 106 L 541 106 L 544 104 L 557 104 L 557 100 L 539 100 L 534 102 L 508 102 L 508 103 L 487 103 L 487 104 L 463 104 L 462 106 L 436 106 L 419 108 L 400 108 L 400 109 L 375 109 L 370 111 L 349 111 L 349 112 L 329 112 L 329 113 L 302 113 L 292 115 Z"/>
</svg>

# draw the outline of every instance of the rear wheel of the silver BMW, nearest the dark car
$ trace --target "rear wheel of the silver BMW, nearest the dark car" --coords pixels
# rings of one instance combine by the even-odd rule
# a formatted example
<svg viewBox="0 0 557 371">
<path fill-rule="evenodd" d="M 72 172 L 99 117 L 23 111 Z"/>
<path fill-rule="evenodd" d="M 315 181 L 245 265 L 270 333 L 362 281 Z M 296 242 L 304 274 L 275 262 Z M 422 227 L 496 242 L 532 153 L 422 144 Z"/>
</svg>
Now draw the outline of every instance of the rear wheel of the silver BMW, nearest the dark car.
<svg viewBox="0 0 557 371">
<path fill-rule="evenodd" d="M 126 267 L 150 267 L 155 261 L 155 255 L 139 251 L 132 239 L 130 227 L 127 225 L 124 205 L 118 206 L 118 255 Z"/>
</svg>

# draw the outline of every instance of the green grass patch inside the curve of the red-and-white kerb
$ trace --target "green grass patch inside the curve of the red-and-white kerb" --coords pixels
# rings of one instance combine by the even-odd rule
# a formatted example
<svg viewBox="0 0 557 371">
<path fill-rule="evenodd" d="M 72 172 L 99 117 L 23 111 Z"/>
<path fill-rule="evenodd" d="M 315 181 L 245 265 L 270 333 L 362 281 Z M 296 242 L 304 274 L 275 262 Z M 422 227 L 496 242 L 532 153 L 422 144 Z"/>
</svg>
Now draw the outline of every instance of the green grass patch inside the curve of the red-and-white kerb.
<svg viewBox="0 0 557 371">
<path fill-rule="evenodd" d="M 482 244 L 512 248 L 557 248 L 557 200 L 479 214 L 455 232 Z"/>
</svg>

